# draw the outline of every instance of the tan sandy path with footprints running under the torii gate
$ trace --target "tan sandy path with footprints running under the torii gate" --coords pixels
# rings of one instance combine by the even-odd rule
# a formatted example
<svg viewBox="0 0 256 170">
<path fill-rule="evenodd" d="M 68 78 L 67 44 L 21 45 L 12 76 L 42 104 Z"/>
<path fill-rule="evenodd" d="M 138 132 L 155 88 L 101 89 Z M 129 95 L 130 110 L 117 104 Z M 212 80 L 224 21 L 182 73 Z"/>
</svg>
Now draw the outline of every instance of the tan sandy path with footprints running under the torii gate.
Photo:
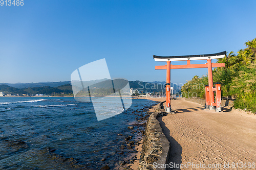
<svg viewBox="0 0 256 170">
<path fill-rule="evenodd" d="M 256 116 L 235 110 L 215 112 L 184 99 L 171 101 L 176 114 L 158 117 L 170 142 L 168 162 L 194 164 L 229 163 L 232 169 L 256 162 Z M 236 164 L 238 163 L 238 164 Z M 221 166 L 221 167 L 220 167 Z M 177 168 L 179 169 L 179 168 Z M 194 169 L 194 168 L 189 168 Z M 201 168 L 205 169 L 205 168 Z"/>
</svg>

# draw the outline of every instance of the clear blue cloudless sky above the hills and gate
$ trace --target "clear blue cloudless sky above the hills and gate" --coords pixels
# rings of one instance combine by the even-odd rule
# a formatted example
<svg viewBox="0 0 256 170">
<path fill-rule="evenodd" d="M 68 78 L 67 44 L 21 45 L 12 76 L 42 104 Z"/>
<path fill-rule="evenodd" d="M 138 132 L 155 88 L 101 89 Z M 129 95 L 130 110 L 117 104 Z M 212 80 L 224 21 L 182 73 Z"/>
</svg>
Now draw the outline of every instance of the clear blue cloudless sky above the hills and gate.
<svg viewBox="0 0 256 170">
<path fill-rule="evenodd" d="M 112 78 L 165 81 L 166 71 L 154 68 L 165 63 L 152 55 L 237 52 L 256 36 L 255 9 L 256 1 L 191 0 L 0 6 L 0 82 L 69 81 L 75 69 L 102 58 Z M 206 73 L 172 70 L 172 82 Z"/>
</svg>

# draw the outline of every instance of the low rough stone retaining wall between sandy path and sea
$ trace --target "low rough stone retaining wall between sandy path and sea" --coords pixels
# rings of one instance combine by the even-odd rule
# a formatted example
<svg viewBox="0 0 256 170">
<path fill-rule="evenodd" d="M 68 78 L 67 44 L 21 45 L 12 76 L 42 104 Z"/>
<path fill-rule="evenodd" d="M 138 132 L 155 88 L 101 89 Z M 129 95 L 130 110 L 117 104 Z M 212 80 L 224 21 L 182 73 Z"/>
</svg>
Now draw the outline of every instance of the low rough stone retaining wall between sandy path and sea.
<svg viewBox="0 0 256 170">
<path fill-rule="evenodd" d="M 147 119 L 145 135 L 143 138 L 139 170 L 165 169 L 155 168 L 154 164 L 165 164 L 168 159 L 169 141 L 162 132 L 157 117 L 166 114 L 162 109 L 163 102 L 158 104 L 156 112 Z"/>
</svg>

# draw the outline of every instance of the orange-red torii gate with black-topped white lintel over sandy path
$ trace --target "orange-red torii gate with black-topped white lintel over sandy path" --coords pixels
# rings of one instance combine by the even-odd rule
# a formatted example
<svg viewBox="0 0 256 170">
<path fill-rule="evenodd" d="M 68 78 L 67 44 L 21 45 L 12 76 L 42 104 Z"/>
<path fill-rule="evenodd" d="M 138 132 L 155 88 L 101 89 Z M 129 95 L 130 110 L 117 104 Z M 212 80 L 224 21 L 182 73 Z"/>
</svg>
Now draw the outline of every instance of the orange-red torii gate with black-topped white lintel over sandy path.
<svg viewBox="0 0 256 170">
<path fill-rule="evenodd" d="M 166 108 L 165 111 L 170 113 L 172 111 L 170 107 L 170 69 L 181 68 L 208 68 L 208 86 L 205 86 L 205 108 L 210 110 L 221 110 L 221 88 L 220 84 L 216 84 L 214 87 L 212 81 L 212 67 L 225 67 L 225 63 L 211 63 L 211 59 L 224 58 L 226 51 L 215 54 L 202 54 L 202 55 L 189 55 L 189 56 L 155 56 L 155 61 L 166 61 L 166 65 L 157 65 L 155 69 L 166 69 Z M 190 60 L 207 60 L 205 64 L 190 64 Z M 170 61 L 187 61 L 185 65 L 171 65 Z M 214 101 L 214 91 L 216 91 L 216 103 Z"/>
</svg>

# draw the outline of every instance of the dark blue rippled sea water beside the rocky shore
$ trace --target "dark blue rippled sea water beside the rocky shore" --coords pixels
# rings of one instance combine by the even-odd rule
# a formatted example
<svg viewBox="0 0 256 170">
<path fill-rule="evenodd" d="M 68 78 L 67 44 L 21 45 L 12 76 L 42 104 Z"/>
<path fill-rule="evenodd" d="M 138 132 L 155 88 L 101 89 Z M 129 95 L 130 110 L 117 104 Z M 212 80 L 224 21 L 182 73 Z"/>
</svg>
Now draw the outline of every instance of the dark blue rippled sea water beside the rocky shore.
<svg viewBox="0 0 256 170">
<path fill-rule="evenodd" d="M 143 108 L 155 104 L 133 99 L 129 110 L 97 121 L 92 103 L 74 98 L 2 97 L 0 169 L 80 169 L 104 164 L 114 168 L 131 154 L 118 152 L 124 138 L 135 133 L 127 126 L 136 123 L 136 111 L 145 114 Z M 115 113 L 119 108 L 105 109 Z"/>
</svg>

